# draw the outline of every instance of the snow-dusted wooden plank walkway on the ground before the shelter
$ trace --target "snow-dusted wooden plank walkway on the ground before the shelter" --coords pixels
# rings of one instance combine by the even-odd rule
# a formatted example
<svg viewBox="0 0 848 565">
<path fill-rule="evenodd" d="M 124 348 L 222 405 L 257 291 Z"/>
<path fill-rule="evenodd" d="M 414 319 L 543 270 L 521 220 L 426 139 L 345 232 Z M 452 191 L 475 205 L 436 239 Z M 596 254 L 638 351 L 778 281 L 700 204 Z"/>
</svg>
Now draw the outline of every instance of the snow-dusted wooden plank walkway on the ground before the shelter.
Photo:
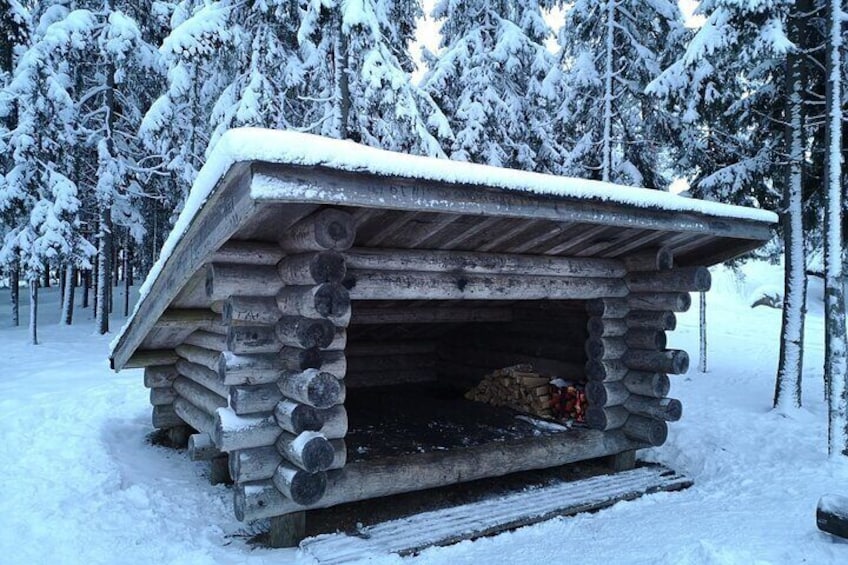
<svg viewBox="0 0 848 565">
<path fill-rule="evenodd" d="M 357 535 L 316 536 L 304 540 L 300 548 L 323 565 L 390 553 L 408 555 L 434 545 L 450 545 L 691 485 L 688 478 L 666 467 L 646 466 L 422 512 L 364 527 Z"/>
</svg>

